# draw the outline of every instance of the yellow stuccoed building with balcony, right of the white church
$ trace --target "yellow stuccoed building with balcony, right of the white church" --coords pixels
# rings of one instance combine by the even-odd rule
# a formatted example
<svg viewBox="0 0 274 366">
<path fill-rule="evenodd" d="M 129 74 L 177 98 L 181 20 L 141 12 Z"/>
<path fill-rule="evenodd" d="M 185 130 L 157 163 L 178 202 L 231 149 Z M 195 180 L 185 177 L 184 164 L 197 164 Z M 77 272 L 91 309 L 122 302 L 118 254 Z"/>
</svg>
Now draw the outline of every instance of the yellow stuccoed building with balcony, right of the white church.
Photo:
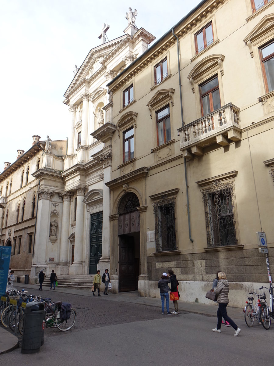
<svg viewBox="0 0 274 366">
<path fill-rule="evenodd" d="M 112 145 L 118 291 L 158 297 L 173 269 L 181 299 L 207 302 L 222 270 L 241 307 L 269 280 L 260 231 L 274 271 L 274 3 L 256 3 L 202 1 L 108 84 L 92 136 Z"/>
</svg>

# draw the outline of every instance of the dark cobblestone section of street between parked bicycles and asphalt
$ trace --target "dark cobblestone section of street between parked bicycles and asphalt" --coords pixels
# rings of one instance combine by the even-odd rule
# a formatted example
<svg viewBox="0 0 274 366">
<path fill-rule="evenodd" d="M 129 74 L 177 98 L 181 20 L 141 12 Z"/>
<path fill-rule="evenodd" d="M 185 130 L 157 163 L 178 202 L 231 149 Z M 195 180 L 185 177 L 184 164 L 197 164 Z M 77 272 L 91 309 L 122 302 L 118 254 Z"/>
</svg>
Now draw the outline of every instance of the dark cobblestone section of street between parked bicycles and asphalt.
<svg viewBox="0 0 274 366">
<path fill-rule="evenodd" d="M 73 331 L 163 317 L 161 314 L 160 299 L 159 307 L 153 307 L 112 301 L 111 294 L 106 296 L 102 293 L 99 297 L 97 292 L 95 296 L 88 297 L 60 294 L 53 290 L 43 290 L 41 295 L 43 295 L 43 298 L 51 298 L 53 301 L 69 302 L 72 304 L 73 309 L 76 310 L 76 322 L 72 328 Z M 62 334 L 56 328 L 45 328 L 45 336 L 57 336 L 60 333 Z"/>
</svg>

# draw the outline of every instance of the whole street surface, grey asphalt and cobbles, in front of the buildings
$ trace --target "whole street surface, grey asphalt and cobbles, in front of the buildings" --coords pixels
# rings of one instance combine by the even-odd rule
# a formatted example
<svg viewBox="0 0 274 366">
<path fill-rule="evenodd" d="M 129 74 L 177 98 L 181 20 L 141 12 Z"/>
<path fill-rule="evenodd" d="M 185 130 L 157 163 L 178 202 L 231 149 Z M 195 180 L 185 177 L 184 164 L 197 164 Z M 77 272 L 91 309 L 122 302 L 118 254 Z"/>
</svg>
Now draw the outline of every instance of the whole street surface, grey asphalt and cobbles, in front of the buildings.
<svg viewBox="0 0 274 366">
<path fill-rule="evenodd" d="M 77 295 L 58 291 L 44 290 L 42 294 L 71 302 L 77 312 L 75 326 L 68 332 L 46 328 L 45 343 L 37 354 L 21 354 L 18 348 L 1 355 L 1 364 L 246 366 L 252 361 L 273 365 L 274 324 L 270 330 L 258 324 L 248 328 L 241 309 L 237 309 L 235 318 L 241 333 L 234 337 L 231 327 L 222 327 L 220 334 L 212 332 L 216 326 L 212 315 L 189 311 L 162 315 L 160 299 L 148 298 L 146 303 L 137 297 L 140 302 L 144 300 L 142 304 L 124 301 L 128 295 L 102 294 L 98 298 L 88 292 Z"/>
</svg>

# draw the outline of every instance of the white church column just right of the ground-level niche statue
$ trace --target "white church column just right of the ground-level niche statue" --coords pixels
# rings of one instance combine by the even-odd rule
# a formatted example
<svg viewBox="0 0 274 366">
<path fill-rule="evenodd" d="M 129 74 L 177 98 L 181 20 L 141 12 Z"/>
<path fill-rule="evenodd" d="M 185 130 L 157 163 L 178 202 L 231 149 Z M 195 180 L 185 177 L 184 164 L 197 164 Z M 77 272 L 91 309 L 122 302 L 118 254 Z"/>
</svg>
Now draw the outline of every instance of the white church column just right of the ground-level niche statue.
<svg viewBox="0 0 274 366">
<path fill-rule="evenodd" d="M 69 236 L 69 207 L 71 201 L 71 193 L 64 192 L 59 195 L 63 199 L 63 215 L 62 215 L 62 229 L 60 241 L 60 263 L 68 263 L 68 236 Z"/>
</svg>

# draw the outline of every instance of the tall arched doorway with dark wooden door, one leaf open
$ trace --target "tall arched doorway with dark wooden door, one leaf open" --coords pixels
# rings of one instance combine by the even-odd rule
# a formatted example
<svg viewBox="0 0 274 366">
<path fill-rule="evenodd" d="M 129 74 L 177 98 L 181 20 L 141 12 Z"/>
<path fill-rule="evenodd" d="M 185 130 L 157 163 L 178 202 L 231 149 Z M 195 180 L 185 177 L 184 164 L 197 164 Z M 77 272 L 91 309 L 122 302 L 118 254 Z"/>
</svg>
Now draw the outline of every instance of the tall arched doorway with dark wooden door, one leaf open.
<svg viewBox="0 0 274 366">
<path fill-rule="evenodd" d="M 140 206 L 134 193 L 125 194 L 118 208 L 119 292 L 138 290 L 140 275 Z"/>
</svg>

